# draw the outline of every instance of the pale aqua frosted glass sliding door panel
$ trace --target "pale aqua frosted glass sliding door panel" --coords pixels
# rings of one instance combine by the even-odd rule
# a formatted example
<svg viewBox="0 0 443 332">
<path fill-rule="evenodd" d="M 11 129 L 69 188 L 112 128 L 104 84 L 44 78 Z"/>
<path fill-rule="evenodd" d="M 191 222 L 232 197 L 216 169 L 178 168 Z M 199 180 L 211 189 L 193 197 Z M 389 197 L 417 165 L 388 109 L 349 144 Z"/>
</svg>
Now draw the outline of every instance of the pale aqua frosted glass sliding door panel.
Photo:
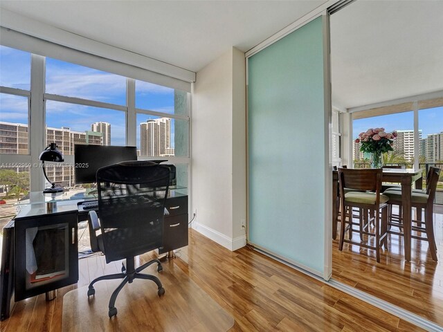
<svg viewBox="0 0 443 332">
<path fill-rule="evenodd" d="M 248 241 L 327 279 L 325 24 L 318 17 L 248 58 Z"/>
</svg>

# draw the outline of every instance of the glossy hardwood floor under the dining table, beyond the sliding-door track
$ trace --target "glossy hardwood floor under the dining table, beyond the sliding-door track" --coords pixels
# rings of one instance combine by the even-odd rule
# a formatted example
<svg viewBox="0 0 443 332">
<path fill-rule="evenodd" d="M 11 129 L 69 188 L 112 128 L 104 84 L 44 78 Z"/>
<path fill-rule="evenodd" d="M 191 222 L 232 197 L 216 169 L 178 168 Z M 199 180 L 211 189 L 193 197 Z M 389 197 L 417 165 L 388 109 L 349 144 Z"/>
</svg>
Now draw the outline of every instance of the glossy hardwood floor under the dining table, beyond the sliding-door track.
<svg viewBox="0 0 443 332">
<path fill-rule="evenodd" d="M 382 250 L 377 264 L 374 250 L 345 243 L 340 252 L 337 239 L 332 278 L 443 326 L 443 214 L 434 214 L 434 223 L 438 262 L 432 260 L 427 241 L 413 239 L 407 262 L 403 237 L 390 234 L 388 250 Z"/>
</svg>

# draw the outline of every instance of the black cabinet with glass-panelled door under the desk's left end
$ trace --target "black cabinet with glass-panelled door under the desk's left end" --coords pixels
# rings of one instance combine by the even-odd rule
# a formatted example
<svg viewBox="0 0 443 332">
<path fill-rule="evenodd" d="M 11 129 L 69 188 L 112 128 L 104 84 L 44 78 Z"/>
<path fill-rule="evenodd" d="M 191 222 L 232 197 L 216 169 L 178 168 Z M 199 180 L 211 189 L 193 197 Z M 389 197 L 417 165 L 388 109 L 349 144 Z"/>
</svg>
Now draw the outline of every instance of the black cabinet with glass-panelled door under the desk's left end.
<svg viewBox="0 0 443 332">
<path fill-rule="evenodd" d="M 15 218 L 15 301 L 78 282 L 76 211 Z"/>
</svg>

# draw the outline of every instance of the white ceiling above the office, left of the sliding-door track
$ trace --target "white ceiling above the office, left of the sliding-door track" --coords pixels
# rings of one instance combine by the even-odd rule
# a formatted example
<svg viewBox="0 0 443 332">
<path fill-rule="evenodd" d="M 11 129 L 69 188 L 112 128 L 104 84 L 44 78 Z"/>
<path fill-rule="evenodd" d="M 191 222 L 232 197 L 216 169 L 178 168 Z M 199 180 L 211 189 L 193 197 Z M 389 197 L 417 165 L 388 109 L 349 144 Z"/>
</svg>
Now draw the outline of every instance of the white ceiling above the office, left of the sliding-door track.
<svg viewBox="0 0 443 332">
<path fill-rule="evenodd" d="M 190 71 L 246 52 L 327 0 L 0 1 L 1 8 Z"/>
</svg>

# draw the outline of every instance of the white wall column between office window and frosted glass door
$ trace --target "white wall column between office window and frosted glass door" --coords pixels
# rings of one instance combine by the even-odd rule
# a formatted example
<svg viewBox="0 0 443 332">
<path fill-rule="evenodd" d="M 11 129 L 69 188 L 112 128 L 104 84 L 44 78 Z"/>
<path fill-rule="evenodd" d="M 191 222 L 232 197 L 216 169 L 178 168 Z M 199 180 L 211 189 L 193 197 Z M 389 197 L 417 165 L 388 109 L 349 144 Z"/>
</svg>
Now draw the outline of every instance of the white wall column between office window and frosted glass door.
<svg viewBox="0 0 443 332">
<path fill-rule="evenodd" d="M 192 227 L 230 250 L 246 245 L 245 89 L 232 48 L 197 73 L 192 96 Z"/>
</svg>

